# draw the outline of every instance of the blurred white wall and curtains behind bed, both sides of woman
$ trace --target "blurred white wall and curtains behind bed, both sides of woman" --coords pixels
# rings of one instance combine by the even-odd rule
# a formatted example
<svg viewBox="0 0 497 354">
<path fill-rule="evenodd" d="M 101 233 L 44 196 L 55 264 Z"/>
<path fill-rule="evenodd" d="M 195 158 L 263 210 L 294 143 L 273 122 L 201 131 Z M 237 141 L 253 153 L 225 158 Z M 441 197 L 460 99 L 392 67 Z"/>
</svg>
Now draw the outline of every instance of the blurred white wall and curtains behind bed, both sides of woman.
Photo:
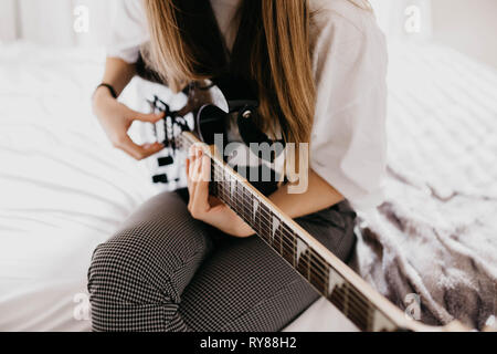
<svg viewBox="0 0 497 354">
<path fill-rule="evenodd" d="M 23 39 L 43 45 L 102 45 L 114 6 L 121 0 L 0 0 L 0 41 Z M 139 1 L 139 0 L 136 0 Z M 426 40 L 432 34 L 497 66 L 497 0 L 370 0 L 390 41 Z M 76 33 L 74 9 L 89 10 L 89 31 Z M 421 10 L 421 32 L 406 33 L 405 9 Z"/>
</svg>

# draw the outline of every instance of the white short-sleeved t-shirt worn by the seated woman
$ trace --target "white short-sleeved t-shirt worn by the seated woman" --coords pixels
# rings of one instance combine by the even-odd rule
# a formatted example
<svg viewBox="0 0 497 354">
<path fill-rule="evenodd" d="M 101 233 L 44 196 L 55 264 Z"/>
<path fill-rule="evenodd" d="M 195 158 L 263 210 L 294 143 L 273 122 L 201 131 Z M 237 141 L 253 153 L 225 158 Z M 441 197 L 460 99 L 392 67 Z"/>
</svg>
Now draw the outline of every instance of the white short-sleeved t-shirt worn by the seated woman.
<svg viewBox="0 0 497 354">
<path fill-rule="evenodd" d="M 229 48 L 241 0 L 211 0 Z M 387 166 L 387 45 L 374 14 L 348 0 L 310 0 L 317 88 L 310 167 L 359 210 L 381 204 Z M 137 61 L 149 40 L 140 0 L 119 1 L 108 56 Z"/>
</svg>

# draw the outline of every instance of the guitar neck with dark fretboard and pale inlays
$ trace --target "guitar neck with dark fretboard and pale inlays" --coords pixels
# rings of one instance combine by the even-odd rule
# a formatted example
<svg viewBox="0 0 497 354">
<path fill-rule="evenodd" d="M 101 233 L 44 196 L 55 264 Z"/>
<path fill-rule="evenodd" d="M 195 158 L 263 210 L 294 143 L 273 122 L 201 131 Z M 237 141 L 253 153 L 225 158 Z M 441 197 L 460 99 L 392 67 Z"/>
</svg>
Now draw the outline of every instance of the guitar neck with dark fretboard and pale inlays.
<svg viewBox="0 0 497 354">
<path fill-rule="evenodd" d="M 183 133 L 180 146 L 200 143 Z M 222 158 L 209 154 L 211 192 L 234 210 L 316 291 L 362 331 L 398 331 L 408 326 L 403 313 L 378 294 L 320 242 L 285 216 Z"/>
</svg>

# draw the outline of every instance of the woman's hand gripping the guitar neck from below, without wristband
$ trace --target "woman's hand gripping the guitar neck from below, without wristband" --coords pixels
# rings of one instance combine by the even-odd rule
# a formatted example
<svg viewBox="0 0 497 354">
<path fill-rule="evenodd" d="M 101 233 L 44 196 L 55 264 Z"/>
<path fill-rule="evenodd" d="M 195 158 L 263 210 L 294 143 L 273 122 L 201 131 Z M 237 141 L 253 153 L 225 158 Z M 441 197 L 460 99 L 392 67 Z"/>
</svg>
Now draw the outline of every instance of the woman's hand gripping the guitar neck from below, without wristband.
<svg viewBox="0 0 497 354">
<path fill-rule="evenodd" d="M 255 233 L 233 210 L 218 198 L 209 195 L 211 160 L 202 147 L 192 146 L 187 159 L 188 190 L 190 201 L 188 210 L 191 216 L 209 223 L 221 231 L 240 238 Z"/>
</svg>

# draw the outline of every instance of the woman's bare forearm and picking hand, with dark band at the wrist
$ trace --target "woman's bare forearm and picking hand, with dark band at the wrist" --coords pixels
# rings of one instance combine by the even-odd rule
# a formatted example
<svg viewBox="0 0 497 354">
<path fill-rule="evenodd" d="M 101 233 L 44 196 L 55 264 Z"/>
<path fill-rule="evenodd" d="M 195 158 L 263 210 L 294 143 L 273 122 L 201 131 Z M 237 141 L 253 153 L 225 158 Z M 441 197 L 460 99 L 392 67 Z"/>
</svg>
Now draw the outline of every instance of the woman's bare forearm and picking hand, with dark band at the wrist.
<svg viewBox="0 0 497 354">
<path fill-rule="evenodd" d="M 103 82 L 114 87 L 117 95 L 135 76 L 135 65 L 121 59 L 107 58 Z M 163 114 L 142 114 L 128 108 L 114 98 L 107 87 L 98 87 L 93 96 L 93 111 L 104 128 L 110 143 L 135 159 L 144 159 L 163 148 L 162 144 L 137 145 L 128 136 L 128 129 L 134 121 L 155 123 Z"/>
</svg>

